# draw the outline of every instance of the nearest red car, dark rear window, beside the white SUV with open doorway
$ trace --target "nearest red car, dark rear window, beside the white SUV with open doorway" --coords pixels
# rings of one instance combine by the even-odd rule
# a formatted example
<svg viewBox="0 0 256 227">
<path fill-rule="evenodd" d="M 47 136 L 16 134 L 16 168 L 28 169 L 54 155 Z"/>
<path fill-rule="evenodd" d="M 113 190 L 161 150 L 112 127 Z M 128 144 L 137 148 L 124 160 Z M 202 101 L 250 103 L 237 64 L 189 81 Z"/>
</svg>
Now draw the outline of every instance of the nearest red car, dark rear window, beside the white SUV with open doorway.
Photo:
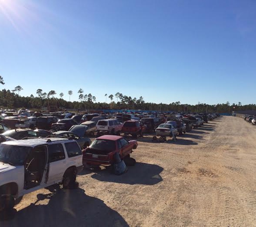
<svg viewBox="0 0 256 227">
<path fill-rule="evenodd" d="M 112 165 L 115 162 L 114 154 L 120 154 L 121 159 L 129 158 L 133 149 L 137 148 L 137 141 L 121 136 L 106 135 L 96 138 L 93 143 L 83 151 L 82 163 L 88 167 Z"/>
</svg>

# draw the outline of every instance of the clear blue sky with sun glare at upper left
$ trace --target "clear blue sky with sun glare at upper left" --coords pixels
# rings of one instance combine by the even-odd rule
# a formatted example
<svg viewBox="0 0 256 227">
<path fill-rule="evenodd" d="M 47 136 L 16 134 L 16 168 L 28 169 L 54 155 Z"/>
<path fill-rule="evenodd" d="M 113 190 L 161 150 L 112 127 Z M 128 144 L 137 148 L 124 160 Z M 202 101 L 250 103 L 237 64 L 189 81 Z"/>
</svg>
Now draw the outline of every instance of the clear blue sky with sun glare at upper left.
<svg viewBox="0 0 256 227">
<path fill-rule="evenodd" d="M 253 0 L 0 0 L 0 89 L 255 103 L 255 11 Z"/>
</svg>

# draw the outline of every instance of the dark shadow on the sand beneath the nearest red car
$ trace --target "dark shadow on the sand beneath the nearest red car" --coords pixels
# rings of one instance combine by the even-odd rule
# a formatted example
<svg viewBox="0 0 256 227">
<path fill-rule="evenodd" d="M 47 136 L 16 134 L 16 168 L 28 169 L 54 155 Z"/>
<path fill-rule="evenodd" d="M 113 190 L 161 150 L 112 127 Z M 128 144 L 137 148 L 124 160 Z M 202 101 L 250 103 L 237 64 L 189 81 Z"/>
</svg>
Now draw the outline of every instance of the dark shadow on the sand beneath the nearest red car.
<svg viewBox="0 0 256 227">
<path fill-rule="evenodd" d="M 135 166 L 128 166 L 128 171 L 119 176 L 110 173 L 108 169 L 102 169 L 91 177 L 99 181 L 128 185 L 156 185 L 163 180 L 160 176 L 162 171 L 163 168 L 158 165 L 137 162 Z"/>
</svg>

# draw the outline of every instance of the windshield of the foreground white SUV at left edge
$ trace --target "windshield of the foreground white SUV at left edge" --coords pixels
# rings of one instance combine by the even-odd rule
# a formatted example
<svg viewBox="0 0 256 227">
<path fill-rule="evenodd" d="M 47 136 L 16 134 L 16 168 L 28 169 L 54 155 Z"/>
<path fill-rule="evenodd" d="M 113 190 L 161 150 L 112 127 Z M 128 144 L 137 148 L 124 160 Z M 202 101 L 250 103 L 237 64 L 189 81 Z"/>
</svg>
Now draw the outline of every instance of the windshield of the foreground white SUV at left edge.
<svg viewBox="0 0 256 227">
<path fill-rule="evenodd" d="M 14 166 L 24 165 L 31 147 L 0 144 L 0 161 Z"/>
</svg>

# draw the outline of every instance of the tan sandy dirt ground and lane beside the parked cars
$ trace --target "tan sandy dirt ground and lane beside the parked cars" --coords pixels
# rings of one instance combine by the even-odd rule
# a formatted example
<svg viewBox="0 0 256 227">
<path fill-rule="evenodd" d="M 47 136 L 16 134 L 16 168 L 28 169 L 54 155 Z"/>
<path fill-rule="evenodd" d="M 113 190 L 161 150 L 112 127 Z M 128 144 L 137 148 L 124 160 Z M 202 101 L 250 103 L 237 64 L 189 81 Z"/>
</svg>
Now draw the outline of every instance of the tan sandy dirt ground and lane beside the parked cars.
<svg viewBox="0 0 256 227">
<path fill-rule="evenodd" d="M 0 226 L 256 226 L 256 127 L 221 117 L 176 143 L 138 139 L 137 164 L 24 196 Z"/>
</svg>

